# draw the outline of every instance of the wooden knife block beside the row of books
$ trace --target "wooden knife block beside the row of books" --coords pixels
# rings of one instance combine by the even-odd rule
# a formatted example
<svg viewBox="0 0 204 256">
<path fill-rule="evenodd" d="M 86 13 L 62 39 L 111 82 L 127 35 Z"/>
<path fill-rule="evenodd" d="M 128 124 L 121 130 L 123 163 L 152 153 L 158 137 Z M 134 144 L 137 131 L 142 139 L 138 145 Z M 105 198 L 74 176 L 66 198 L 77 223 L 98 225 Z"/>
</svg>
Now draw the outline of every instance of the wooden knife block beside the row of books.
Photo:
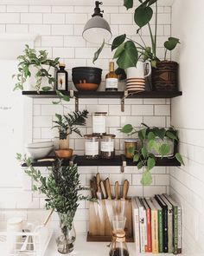
<svg viewBox="0 0 204 256">
<path fill-rule="evenodd" d="M 122 200 L 110 200 L 114 214 L 121 213 Z M 95 204 L 95 205 L 94 205 Z M 98 213 L 96 213 L 96 207 Z M 99 207 L 103 213 L 103 220 L 99 218 Z M 132 229 L 132 213 L 131 213 L 131 199 L 126 199 L 124 202 L 124 216 L 126 223 L 124 231 L 126 233 L 126 241 L 133 242 Z M 102 219 L 102 218 L 101 218 Z M 108 217 L 105 206 L 105 200 L 100 200 L 100 204 L 90 202 L 89 206 L 89 232 L 87 233 L 87 241 L 112 241 L 112 226 Z"/>
</svg>

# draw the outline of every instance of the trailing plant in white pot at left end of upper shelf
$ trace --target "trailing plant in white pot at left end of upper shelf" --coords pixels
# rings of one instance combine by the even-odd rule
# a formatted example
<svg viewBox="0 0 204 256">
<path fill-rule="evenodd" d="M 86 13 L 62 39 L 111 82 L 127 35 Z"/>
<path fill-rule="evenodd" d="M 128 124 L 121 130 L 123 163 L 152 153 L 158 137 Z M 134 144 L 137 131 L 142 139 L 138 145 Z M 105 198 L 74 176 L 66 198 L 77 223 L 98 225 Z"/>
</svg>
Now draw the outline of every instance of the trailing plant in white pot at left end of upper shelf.
<svg viewBox="0 0 204 256">
<path fill-rule="evenodd" d="M 36 90 L 37 93 L 55 90 L 60 101 L 53 102 L 54 104 L 60 103 L 61 100 L 69 102 L 69 96 L 55 89 L 55 73 L 60 58 L 49 59 L 47 50 L 30 49 L 28 44 L 25 45 L 23 53 L 17 57 L 19 63 L 18 72 L 13 75 L 17 80 L 14 90 Z"/>
</svg>

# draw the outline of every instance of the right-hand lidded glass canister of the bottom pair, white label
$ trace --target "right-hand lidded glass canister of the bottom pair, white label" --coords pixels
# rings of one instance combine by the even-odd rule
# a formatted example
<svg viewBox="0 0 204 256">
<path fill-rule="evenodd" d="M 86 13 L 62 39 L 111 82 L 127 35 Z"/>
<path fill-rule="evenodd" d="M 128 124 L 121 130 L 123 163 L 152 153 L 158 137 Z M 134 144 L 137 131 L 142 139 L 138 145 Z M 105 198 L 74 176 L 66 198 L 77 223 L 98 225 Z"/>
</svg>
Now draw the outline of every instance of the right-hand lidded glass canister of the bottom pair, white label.
<svg viewBox="0 0 204 256">
<path fill-rule="evenodd" d="M 101 158 L 111 159 L 115 156 L 115 136 L 102 135 L 100 140 Z"/>
</svg>

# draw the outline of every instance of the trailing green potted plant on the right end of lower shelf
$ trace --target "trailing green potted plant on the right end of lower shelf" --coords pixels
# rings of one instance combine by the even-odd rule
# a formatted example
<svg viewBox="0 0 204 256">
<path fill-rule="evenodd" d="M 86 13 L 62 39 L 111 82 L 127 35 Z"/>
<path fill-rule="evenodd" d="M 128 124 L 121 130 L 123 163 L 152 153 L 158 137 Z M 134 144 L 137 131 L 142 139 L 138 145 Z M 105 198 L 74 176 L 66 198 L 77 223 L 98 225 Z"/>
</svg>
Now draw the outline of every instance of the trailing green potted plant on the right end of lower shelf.
<svg viewBox="0 0 204 256">
<path fill-rule="evenodd" d="M 144 128 L 136 130 L 131 124 L 124 125 L 120 131 L 127 135 L 138 134 L 140 148 L 136 150 L 130 149 L 133 154 L 133 161 L 137 162 L 137 168 L 144 167 L 141 183 L 143 186 L 152 183 L 150 170 L 156 165 L 156 157 L 176 158 L 182 165 L 182 155 L 176 152 L 178 143 L 178 135 L 175 128 L 150 128 L 143 124 Z"/>
</svg>

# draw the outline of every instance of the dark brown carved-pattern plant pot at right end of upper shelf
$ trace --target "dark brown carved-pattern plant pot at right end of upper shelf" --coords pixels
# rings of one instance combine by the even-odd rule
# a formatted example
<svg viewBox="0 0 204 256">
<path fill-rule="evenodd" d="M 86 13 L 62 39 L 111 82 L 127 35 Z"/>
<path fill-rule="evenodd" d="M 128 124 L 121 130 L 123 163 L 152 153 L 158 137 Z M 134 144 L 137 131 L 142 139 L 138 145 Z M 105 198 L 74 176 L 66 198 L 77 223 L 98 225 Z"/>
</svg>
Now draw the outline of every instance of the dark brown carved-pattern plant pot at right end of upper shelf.
<svg viewBox="0 0 204 256">
<path fill-rule="evenodd" d="M 152 68 L 151 82 L 153 90 L 177 91 L 178 63 L 169 61 L 157 62 L 156 68 Z"/>
</svg>

